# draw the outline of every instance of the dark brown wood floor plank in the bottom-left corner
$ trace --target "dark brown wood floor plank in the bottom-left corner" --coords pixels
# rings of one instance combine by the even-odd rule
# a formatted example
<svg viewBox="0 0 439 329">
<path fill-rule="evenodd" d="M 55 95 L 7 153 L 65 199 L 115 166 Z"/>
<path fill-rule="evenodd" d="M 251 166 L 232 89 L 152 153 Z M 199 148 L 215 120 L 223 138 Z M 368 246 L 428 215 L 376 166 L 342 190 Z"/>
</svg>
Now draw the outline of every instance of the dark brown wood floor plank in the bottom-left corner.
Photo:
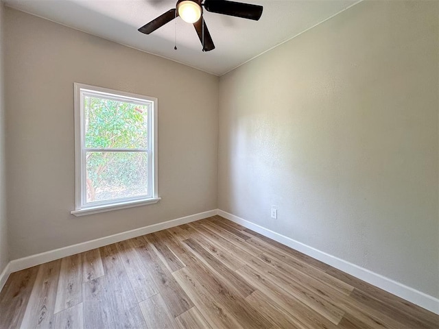
<svg viewBox="0 0 439 329">
<path fill-rule="evenodd" d="M 20 328 L 38 266 L 11 273 L 0 293 L 0 328 Z"/>
</svg>

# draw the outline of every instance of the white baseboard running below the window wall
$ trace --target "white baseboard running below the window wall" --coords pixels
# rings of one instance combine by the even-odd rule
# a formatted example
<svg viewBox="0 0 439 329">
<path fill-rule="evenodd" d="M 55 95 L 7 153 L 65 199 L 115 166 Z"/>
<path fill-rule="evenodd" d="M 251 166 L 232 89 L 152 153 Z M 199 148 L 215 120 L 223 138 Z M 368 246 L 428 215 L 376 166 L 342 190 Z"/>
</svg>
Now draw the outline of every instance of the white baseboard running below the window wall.
<svg viewBox="0 0 439 329">
<path fill-rule="evenodd" d="M 143 228 L 137 228 L 135 230 L 130 230 L 126 232 L 121 232 L 113 234 L 110 236 L 105 236 L 103 238 L 86 241 L 78 243 L 76 245 L 69 245 L 67 247 L 62 247 L 55 250 L 50 250 L 49 252 L 42 252 L 41 254 L 36 254 L 32 256 L 27 256 L 24 258 L 19 258 L 11 260 L 10 263 L 5 267 L 0 276 L 0 291 L 3 288 L 6 280 L 10 273 L 20 271 L 21 269 L 27 269 L 32 266 L 40 265 L 43 263 L 50 262 L 51 260 L 56 260 L 59 258 L 71 256 L 78 254 L 80 252 L 86 252 L 91 249 L 104 247 L 104 245 L 110 245 L 111 243 L 117 243 L 119 241 L 135 238 L 136 236 L 141 236 L 144 234 L 149 234 L 152 232 L 157 232 L 160 230 L 165 230 L 167 228 L 173 228 L 174 226 L 179 226 L 185 223 L 190 223 L 191 221 L 198 221 L 207 217 L 212 217 L 217 215 L 217 210 L 209 210 L 206 212 L 200 212 L 195 215 L 190 215 L 186 217 L 181 217 L 178 219 L 172 219 L 171 221 L 165 221 L 163 223 L 156 223 L 149 226 L 144 226 Z"/>
</svg>

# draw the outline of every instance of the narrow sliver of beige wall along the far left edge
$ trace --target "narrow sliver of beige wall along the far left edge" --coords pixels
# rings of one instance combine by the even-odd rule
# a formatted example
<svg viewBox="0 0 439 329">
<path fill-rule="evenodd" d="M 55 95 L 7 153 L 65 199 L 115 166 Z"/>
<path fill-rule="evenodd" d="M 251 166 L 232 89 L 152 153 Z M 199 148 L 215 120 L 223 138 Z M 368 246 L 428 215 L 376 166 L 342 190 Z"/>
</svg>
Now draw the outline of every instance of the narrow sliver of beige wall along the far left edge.
<svg viewBox="0 0 439 329">
<path fill-rule="evenodd" d="M 0 2 L 0 273 L 3 271 L 9 261 L 8 226 L 6 222 L 5 208 L 5 103 L 3 97 L 3 53 L 5 48 L 3 45 L 3 10 L 3 3 Z"/>
</svg>

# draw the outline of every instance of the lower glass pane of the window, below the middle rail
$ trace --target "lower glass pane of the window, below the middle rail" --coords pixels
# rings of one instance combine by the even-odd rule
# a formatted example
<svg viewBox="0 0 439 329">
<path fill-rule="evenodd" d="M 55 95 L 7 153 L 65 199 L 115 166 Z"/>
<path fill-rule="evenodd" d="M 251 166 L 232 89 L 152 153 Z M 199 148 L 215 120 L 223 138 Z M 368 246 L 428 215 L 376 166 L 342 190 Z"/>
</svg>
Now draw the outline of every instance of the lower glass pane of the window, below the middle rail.
<svg viewBox="0 0 439 329">
<path fill-rule="evenodd" d="M 87 202 L 148 194 L 147 153 L 86 152 Z"/>
</svg>

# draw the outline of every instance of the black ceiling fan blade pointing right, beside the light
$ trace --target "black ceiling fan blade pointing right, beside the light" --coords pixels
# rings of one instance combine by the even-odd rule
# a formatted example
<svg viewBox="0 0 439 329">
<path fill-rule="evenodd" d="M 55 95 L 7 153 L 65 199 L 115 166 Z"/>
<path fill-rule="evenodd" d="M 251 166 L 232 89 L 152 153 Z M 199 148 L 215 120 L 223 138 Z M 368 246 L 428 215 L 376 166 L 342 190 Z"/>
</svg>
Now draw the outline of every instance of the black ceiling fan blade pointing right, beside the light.
<svg viewBox="0 0 439 329">
<path fill-rule="evenodd" d="M 204 8 L 208 12 L 241 17 L 242 19 L 253 19 L 254 21 L 258 21 L 261 18 L 263 10 L 261 5 L 226 0 L 206 0 Z"/>
</svg>

